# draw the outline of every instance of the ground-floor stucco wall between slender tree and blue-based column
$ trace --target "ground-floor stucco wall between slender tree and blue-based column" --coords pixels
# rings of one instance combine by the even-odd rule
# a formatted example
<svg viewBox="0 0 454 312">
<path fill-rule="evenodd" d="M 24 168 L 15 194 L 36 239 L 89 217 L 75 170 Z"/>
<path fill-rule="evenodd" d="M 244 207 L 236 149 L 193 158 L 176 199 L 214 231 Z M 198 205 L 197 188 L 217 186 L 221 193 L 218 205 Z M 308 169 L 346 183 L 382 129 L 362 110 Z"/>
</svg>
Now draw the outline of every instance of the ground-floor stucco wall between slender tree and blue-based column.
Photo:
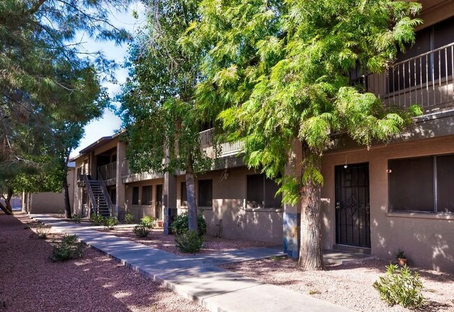
<svg viewBox="0 0 454 312">
<path fill-rule="evenodd" d="M 231 239 L 246 239 L 282 244 L 282 209 L 245 209 L 247 174 L 254 174 L 247 168 L 228 169 L 227 179 L 221 179 L 223 170 L 199 175 L 198 179 L 212 179 L 213 207 L 204 208 L 207 234 L 217 235 L 219 220 L 223 223 L 222 236 Z M 181 182 L 177 178 L 177 207 L 179 214 L 186 211 L 181 206 Z M 196 181 L 196 197 L 198 183 Z"/>
</svg>

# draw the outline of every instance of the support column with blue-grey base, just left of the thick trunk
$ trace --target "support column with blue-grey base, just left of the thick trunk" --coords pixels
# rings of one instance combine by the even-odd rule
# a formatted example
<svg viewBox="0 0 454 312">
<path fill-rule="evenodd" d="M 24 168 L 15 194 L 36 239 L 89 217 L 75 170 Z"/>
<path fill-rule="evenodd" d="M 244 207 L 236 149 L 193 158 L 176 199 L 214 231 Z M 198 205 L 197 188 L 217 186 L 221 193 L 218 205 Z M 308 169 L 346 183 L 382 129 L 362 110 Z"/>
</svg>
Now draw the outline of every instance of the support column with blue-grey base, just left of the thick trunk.
<svg viewBox="0 0 454 312">
<path fill-rule="evenodd" d="M 286 176 L 301 179 L 302 151 L 301 142 L 295 139 L 292 144 L 291 154 L 285 168 Z M 284 231 L 284 253 L 292 258 L 298 258 L 300 252 L 300 201 L 296 205 L 284 205 L 282 230 Z"/>
</svg>

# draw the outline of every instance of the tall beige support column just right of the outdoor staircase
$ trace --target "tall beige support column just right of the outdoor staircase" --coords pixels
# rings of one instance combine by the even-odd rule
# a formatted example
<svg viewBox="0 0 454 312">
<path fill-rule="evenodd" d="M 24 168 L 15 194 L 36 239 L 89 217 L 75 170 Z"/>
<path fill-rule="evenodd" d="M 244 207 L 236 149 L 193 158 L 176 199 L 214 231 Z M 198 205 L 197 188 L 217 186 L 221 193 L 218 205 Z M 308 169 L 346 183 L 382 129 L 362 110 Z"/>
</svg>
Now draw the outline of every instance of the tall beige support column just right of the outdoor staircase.
<svg viewBox="0 0 454 312">
<path fill-rule="evenodd" d="M 126 207 L 126 186 L 123 183 L 123 172 L 126 172 L 126 144 L 117 142 L 117 181 L 115 183 L 115 211 L 112 211 L 114 216 L 120 218 L 124 216 Z"/>
</svg>

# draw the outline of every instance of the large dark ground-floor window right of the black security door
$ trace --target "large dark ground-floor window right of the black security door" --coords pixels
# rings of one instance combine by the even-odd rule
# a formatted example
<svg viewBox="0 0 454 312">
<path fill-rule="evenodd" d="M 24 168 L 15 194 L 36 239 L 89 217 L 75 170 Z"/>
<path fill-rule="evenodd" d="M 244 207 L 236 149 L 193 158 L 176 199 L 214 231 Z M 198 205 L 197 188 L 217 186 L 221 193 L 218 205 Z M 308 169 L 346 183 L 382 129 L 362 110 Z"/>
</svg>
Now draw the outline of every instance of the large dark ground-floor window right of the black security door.
<svg viewBox="0 0 454 312">
<path fill-rule="evenodd" d="M 390 160 L 390 211 L 454 212 L 454 155 Z"/>
</svg>

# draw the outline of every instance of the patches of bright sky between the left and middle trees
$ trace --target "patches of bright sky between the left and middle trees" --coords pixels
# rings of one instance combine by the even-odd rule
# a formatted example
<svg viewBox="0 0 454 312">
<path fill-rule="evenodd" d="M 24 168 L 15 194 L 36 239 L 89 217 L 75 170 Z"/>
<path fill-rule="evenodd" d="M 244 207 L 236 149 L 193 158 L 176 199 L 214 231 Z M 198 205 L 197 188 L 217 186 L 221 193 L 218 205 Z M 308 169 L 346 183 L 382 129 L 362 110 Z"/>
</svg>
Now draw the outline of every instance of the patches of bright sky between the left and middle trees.
<svg viewBox="0 0 454 312">
<path fill-rule="evenodd" d="M 138 13 L 138 19 L 132 16 L 132 12 L 135 10 Z M 128 12 L 125 13 L 112 13 L 110 22 L 116 27 L 123 27 L 127 29 L 131 34 L 134 34 L 135 31 L 140 27 L 141 24 L 145 22 L 145 6 L 140 2 L 132 3 L 129 6 Z M 82 38 L 83 47 L 88 52 L 95 52 L 101 50 L 104 52 L 105 57 L 108 59 L 115 59 L 117 64 L 121 65 L 124 62 L 128 51 L 126 44 L 115 46 L 112 42 L 95 42 L 89 38 Z M 117 84 L 112 82 L 104 82 L 103 87 L 108 89 L 109 95 L 111 98 L 115 96 L 120 91 L 121 84 L 126 81 L 128 73 L 124 68 L 119 68 L 115 71 L 115 77 L 117 78 Z M 84 149 L 89 144 L 95 142 L 96 140 L 112 135 L 115 131 L 119 130 L 122 121 L 119 117 L 115 116 L 115 113 L 110 110 L 104 110 L 103 117 L 98 120 L 91 121 L 87 126 L 85 126 L 85 135 L 77 148 L 73 150 L 71 156 L 76 156 L 79 154 L 81 149 Z"/>
</svg>

